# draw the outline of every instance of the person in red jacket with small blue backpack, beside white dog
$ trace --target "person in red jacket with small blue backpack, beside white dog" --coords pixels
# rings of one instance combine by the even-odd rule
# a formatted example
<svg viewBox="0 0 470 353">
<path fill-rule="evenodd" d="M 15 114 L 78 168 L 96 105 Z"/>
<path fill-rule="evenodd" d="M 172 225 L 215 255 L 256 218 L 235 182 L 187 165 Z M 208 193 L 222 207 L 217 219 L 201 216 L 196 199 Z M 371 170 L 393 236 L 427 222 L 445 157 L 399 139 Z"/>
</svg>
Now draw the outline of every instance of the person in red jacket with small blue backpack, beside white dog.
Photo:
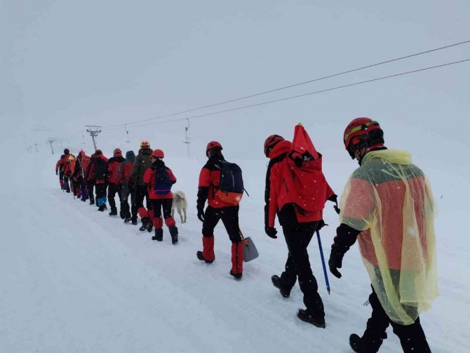
<svg viewBox="0 0 470 353">
<path fill-rule="evenodd" d="M 154 149 L 150 155 L 152 166 L 145 171 L 144 182 L 149 187 L 149 197 L 152 202 L 153 219 L 155 235 L 152 240 L 163 240 L 163 220 L 161 219 L 161 210 L 163 208 L 163 218 L 171 235 L 171 242 L 178 242 L 178 229 L 175 219 L 171 216 L 171 205 L 173 204 L 173 193 L 171 186 L 175 184 L 176 178 L 170 168 L 165 166 L 163 158 L 165 154 L 161 149 Z"/>
</svg>

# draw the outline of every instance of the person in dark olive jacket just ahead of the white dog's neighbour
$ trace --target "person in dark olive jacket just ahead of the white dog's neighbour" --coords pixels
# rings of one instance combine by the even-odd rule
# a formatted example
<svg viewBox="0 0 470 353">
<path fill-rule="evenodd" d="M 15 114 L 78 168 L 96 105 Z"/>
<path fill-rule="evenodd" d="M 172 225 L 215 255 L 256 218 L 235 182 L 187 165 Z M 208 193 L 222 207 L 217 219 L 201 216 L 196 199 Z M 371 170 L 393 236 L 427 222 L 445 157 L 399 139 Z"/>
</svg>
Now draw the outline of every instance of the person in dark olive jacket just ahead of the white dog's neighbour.
<svg viewBox="0 0 470 353">
<path fill-rule="evenodd" d="M 149 199 L 149 189 L 144 182 L 144 174 L 145 171 L 152 166 L 151 154 L 152 149 L 150 148 L 149 141 L 144 140 L 140 142 L 140 149 L 135 157 L 129 182 L 131 188 L 135 185 L 135 206 L 137 207 L 137 213 L 139 213 L 140 219 L 142 220 L 142 226 L 139 230 L 144 231 L 147 229 L 149 232 L 152 232 L 152 218 L 154 218 L 154 215 Z M 146 199 L 147 208 L 144 207 L 144 198 Z"/>
</svg>

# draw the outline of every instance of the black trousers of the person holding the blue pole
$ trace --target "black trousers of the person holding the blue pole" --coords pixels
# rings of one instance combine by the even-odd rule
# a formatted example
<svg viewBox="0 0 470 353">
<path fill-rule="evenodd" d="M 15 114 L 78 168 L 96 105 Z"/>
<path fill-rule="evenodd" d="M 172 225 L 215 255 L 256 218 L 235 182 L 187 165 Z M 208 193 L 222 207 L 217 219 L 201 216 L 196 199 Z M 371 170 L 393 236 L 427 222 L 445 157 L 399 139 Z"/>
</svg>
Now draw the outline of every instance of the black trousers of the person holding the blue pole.
<svg viewBox="0 0 470 353">
<path fill-rule="evenodd" d="M 323 301 L 318 294 L 318 284 L 311 272 L 307 246 L 314 236 L 318 222 L 284 223 L 283 233 L 289 250 L 286 271 L 281 275 L 282 285 L 292 288 L 299 278 L 300 290 L 304 293 L 304 305 L 307 312 L 314 317 L 324 317 Z"/>
</svg>

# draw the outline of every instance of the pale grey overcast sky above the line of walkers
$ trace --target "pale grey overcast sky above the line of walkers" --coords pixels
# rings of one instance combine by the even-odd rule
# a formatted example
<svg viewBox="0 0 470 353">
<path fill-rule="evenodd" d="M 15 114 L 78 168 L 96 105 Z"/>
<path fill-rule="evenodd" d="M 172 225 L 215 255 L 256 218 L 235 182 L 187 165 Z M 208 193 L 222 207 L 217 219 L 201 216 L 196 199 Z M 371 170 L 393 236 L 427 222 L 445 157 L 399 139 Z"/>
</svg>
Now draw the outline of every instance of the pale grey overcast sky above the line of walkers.
<svg viewBox="0 0 470 353">
<path fill-rule="evenodd" d="M 468 0 L 0 0 L 0 116 L 21 147 L 48 136 L 82 147 L 86 124 L 151 119 L 469 40 L 469 15 Z M 470 44 L 174 118 L 466 58 Z M 370 116 L 390 147 L 445 158 L 450 145 L 457 163 L 470 152 L 469 78 L 464 62 L 193 119 L 192 155 L 220 140 L 230 156 L 261 158 L 264 138 L 291 138 L 297 121 L 328 154 L 344 148 L 347 122 Z M 148 139 L 186 154 L 185 126 L 129 128 L 129 145 L 123 128 L 104 130 L 99 143 L 137 149 Z M 90 153 L 89 136 L 84 146 Z"/>
</svg>

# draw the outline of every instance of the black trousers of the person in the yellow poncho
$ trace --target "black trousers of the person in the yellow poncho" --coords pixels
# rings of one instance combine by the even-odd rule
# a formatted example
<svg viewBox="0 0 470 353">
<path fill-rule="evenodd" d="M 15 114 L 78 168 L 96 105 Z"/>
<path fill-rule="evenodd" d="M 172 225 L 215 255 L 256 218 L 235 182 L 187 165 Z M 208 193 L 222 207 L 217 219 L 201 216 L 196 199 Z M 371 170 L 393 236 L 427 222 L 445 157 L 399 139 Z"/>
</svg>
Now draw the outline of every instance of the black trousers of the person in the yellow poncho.
<svg viewBox="0 0 470 353">
<path fill-rule="evenodd" d="M 372 307 L 372 315 L 367 321 L 367 328 L 365 328 L 364 335 L 361 338 L 361 348 L 364 348 L 363 352 L 378 352 L 382 341 L 387 338 L 385 331 L 389 325 L 391 325 L 394 333 L 400 338 L 404 353 L 431 352 L 426 335 L 424 335 L 423 328 L 419 322 L 419 317 L 414 324 L 406 326 L 391 321 L 380 304 L 374 288 L 372 288 L 372 293 L 369 295 L 369 302 Z"/>
</svg>

